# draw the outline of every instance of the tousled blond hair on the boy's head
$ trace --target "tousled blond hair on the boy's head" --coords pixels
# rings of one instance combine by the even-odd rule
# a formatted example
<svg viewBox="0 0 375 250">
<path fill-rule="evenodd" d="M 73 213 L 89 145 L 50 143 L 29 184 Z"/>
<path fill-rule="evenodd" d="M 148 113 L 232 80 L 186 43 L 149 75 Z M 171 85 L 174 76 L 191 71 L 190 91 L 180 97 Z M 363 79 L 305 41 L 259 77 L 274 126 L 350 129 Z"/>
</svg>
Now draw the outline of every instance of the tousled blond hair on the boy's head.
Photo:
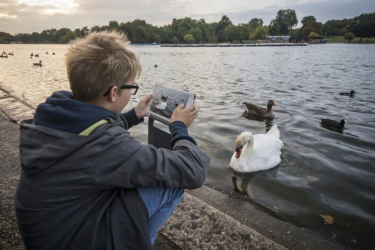
<svg viewBox="0 0 375 250">
<path fill-rule="evenodd" d="M 127 37 L 117 31 L 92 32 L 74 40 L 65 56 L 66 70 L 75 99 L 90 102 L 110 86 L 127 84 L 142 72 Z"/>
</svg>

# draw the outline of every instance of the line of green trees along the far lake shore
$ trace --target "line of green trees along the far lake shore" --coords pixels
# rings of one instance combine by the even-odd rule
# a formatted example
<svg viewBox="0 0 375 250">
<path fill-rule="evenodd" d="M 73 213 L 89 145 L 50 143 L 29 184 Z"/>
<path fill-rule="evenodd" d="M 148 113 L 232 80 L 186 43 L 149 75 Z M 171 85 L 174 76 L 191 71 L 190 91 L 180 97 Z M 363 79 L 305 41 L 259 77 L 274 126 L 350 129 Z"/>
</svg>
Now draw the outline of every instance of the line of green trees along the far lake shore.
<svg viewBox="0 0 375 250">
<path fill-rule="evenodd" d="M 243 40 L 264 39 L 265 35 L 299 36 L 343 36 L 351 40 L 354 37 L 372 37 L 375 35 L 375 12 L 363 13 L 350 19 L 328 20 L 324 24 L 317 22 L 315 16 L 305 16 L 298 24 L 296 11 L 279 10 L 269 25 L 263 25 L 261 18 L 252 18 L 247 23 L 234 25 L 228 16 L 223 15 L 218 22 L 207 23 L 205 19 L 190 17 L 172 19 L 172 23 L 158 27 L 145 20 L 135 19 L 132 22 L 110 21 L 108 25 L 95 25 L 91 28 L 69 28 L 59 30 L 51 28 L 41 33 L 18 33 L 11 35 L 0 31 L 0 43 L 68 43 L 77 37 L 84 37 L 93 31 L 117 30 L 127 34 L 132 43 L 216 43 L 223 41 L 242 42 Z"/>
</svg>

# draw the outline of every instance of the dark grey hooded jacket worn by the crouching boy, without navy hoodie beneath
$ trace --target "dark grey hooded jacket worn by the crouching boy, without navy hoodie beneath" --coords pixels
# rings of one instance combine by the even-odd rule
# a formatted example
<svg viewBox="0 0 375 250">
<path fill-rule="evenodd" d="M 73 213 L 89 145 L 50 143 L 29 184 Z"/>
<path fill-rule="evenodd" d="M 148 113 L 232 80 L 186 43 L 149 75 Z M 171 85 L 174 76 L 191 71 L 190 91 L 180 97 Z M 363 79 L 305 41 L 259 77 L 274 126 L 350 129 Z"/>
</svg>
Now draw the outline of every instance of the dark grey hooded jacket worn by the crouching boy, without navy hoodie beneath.
<svg viewBox="0 0 375 250">
<path fill-rule="evenodd" d="M 189 140 L 173 151 L 107 118 L 89 136 L 21 123 L 16 214 L 26 249 L 152 249 L 135 187 L 196 189 L 210 158 Z"/>
</svg>

